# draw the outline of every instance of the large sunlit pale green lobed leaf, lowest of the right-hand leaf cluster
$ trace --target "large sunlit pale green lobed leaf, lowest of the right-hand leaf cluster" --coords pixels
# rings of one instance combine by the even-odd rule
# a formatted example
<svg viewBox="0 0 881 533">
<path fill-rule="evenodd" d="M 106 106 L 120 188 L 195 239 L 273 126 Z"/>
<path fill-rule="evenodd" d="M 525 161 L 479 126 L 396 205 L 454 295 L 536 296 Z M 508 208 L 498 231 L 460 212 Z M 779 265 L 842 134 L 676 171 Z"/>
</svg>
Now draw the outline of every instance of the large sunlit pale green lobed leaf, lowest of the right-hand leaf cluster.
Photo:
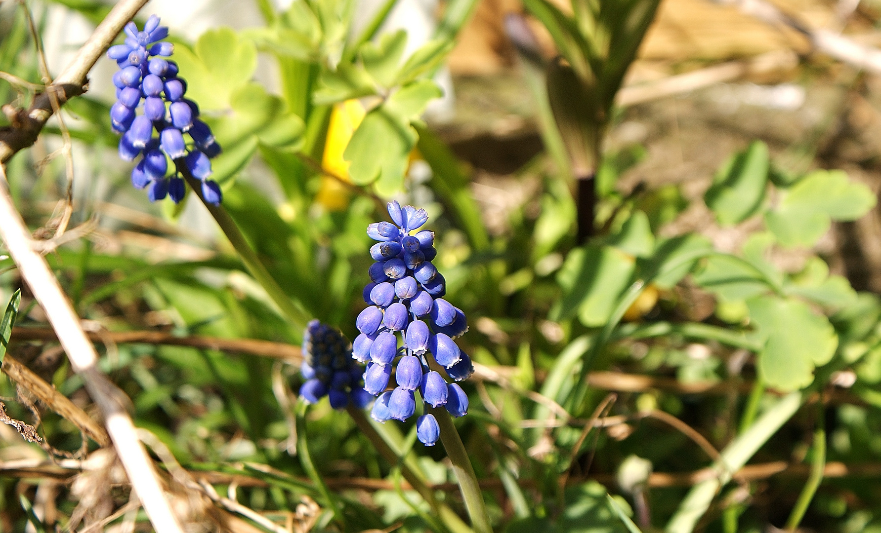
<svg viewBox="0 0 881 533">
<path fill-rule="evenodd" d="M 746 303 L 750 324 L 765 342 L 759 353 L 759 375 L 779 391 L 810 385 L 814 368 L 829 362 L 838 347 L 829 320 L 791 298 L 757 296 Z"/>
</svg>

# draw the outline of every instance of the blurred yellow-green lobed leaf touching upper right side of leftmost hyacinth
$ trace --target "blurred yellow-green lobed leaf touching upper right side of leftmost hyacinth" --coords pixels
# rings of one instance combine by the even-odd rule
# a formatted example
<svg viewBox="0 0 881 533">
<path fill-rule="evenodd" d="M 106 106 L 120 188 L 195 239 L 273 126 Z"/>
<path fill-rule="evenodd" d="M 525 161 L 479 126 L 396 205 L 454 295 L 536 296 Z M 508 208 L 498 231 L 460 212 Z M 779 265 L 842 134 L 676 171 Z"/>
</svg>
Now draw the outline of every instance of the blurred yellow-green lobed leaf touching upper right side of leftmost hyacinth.
<svg viewBox="0 0 881 533">
<path fill-rule="evenodd" d="M 247 84 L 257 68 L 254 43 L 228 27 L 203 33 L 194 50 L 175 45 L 173 59 L 187 79 L 187 96 L 205 110 L 229 107 L 233 92 Z"/>
</svg>

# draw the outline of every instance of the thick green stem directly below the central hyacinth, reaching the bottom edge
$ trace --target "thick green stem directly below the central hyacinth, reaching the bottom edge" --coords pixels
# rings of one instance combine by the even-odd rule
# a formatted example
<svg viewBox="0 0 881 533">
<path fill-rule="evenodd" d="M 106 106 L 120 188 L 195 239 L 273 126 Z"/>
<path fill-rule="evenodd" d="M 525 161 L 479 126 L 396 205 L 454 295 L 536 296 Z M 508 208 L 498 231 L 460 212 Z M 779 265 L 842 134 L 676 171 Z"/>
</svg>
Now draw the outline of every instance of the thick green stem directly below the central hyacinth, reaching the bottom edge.
<svg viewBox="0 0 881 533">
<path fill-rule="evenodd" d="M 474 474 L 474 467 L 459 432 L 453 424 L 453 418 L 442 407 L 426 405 L 428 413 L 432 413 L 441 427 L 441 442 L 447 450 L 447 456 L 453 463 L 453 472 L 459 482 L 459 490 L 462 491 L 465 508 L 471 518 L 471 527 L 475 533 L 492 533 L 490 517 L 486 513 L 484 495 L 480 492 L 478 477 Z"/>
</svg>

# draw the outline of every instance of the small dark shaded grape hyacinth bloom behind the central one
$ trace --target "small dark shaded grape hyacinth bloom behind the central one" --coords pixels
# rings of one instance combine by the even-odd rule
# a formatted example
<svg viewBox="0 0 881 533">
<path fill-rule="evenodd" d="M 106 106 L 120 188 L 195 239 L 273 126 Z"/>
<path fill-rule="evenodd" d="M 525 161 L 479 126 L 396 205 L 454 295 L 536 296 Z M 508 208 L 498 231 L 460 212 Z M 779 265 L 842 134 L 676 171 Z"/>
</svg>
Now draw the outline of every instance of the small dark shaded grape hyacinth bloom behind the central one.
<svg viewBox="0 0 881 533">
<path fill-rule="evenodd" d="M 330 406 L 344 409 L 349 402 L 363 409 L 373 398 L 361 383 L 361 367 L 352 360 L 352 345 L 336 328 L 312 320 L 303 336 L 300 398 L 316 404 L 328 396 Z"/>
</svg>

